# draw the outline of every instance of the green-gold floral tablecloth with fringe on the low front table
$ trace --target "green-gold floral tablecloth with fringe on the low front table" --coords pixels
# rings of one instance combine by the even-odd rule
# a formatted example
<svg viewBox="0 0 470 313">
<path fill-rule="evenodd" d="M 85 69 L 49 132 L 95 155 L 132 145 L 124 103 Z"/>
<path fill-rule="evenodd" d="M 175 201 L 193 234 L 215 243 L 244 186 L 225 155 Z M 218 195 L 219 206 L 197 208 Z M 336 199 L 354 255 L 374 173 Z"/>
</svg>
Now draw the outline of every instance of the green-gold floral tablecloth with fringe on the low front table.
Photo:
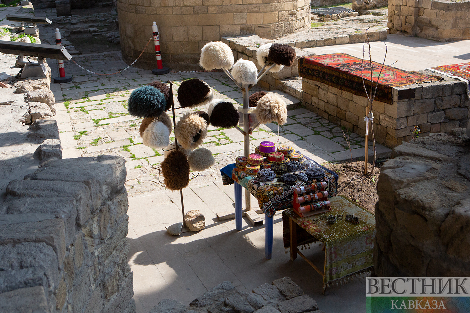
<svg viewBox="0 0 470 313">
<path fill-rule="evenodd" d="M 321 214 L 300 217 L 292 209 L 282 212 L 284 247 L 290 247 L 289 218 L 297 223 L 298 246 L 321 241 L 325 244 L 325 268 L 323 283 L 331 283 L 350 275 L 369 271 L 372 266 L 376 219 L 374 214 L 357 206 L 350 199 L 337 196 L 329 199 L 331 211 L 327 214 L 354 214 L 359 217 L 357 225 L 343 218 L 334 224 L 320 220 Z"/>
</svg>

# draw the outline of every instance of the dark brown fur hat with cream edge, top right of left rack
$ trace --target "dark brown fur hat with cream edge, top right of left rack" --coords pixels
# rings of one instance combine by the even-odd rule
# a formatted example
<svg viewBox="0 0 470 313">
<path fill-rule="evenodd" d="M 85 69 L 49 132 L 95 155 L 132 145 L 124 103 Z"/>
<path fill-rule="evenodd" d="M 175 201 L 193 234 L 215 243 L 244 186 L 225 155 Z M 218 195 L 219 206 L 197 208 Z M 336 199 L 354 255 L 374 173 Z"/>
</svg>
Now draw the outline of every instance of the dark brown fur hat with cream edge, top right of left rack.
<svg viewBox="0 0 470 313">
<path fill-rule="evenodd" d="M 205 106 L 212 101 L 212 97 L 211 87 L 197 78 L 185 80 L 178 88 L 181 107 Z"/>
</svg>

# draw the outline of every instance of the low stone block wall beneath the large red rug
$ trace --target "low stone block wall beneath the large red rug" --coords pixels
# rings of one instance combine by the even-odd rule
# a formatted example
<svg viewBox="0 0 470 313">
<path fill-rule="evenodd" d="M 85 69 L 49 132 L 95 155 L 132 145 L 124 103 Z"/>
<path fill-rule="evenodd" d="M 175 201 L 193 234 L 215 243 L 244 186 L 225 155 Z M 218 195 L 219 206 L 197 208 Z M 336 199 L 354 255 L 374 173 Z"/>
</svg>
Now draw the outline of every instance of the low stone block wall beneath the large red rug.
<svg viewBox="0 0 470 313">
<path fill-rule="evenodd" d="M 403 91 L 411 91 L 414 97 L 400 99 Z M 392 97 L 392 104 L 373 103 L 374 134 L 381 145 L 392 148 L 409 141 L 414 126 L 421 129 L 420 136 L 467 127 L 470 99 L 464 82 L 446 78 L 443 82 L 395 87 Z M 325 119 L 365 136 L 366 97 L 303 78 L 302 103 Z"/>
</svg>

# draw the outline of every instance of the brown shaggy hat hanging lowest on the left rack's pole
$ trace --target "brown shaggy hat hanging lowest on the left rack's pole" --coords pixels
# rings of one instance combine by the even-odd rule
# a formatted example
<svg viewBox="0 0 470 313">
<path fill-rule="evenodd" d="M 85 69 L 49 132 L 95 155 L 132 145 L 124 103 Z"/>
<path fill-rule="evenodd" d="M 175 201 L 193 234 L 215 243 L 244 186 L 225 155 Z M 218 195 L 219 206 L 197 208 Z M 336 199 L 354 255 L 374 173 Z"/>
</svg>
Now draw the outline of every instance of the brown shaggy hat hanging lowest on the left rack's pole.
<svg viewBox="0 0 470 313">
<path fill-rule="evenodd" d="M 174 150 L 168 153 L 160 165 L 165 187 L 169 190 L 181 190 L 189 183 L 189 163 L 186 155 Z"/>
</svg>

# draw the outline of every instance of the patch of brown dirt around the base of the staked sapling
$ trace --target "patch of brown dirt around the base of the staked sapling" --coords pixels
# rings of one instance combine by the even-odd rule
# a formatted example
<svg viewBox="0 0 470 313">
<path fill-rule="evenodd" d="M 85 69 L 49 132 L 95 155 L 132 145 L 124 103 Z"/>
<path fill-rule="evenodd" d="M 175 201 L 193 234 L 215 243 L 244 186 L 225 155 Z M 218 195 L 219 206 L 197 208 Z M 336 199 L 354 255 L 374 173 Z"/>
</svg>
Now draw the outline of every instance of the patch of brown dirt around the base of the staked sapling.
<svg viewBox="0 0 470 313">
<path fill-rule="evenodd" d="M 380 175 L 380 166 L 376 163 L 372 175 L 364 175 L 364 161 L 344 162 L 323 165 L 338 174 L 338 195 L 350 198 L 360 204 L 370 213 L 375 213 L 375 205 L 378 200 L 377 181 Z M 372 164 L 368 165 L 368 172 Z"/>
</svg>

